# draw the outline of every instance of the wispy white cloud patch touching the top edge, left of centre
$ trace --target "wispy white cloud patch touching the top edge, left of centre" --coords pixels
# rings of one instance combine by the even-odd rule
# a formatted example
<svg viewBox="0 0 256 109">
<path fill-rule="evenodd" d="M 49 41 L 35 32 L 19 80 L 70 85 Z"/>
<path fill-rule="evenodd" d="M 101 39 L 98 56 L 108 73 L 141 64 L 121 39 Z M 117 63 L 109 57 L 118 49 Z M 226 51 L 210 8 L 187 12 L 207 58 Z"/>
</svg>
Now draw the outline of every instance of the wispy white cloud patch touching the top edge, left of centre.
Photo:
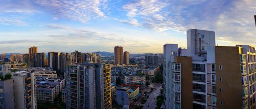
<svg viewBox="0 0 256 109">
<path fill-rule="evenodd" d="M 103 0 L 38 0 L 35 3 L 48 10 L 55 17 L 74 19 L 86 23 L 91 18 L 103 17 L 104 13 L 101 7 L 106 5 L 107 1 Z"/>
</svg>

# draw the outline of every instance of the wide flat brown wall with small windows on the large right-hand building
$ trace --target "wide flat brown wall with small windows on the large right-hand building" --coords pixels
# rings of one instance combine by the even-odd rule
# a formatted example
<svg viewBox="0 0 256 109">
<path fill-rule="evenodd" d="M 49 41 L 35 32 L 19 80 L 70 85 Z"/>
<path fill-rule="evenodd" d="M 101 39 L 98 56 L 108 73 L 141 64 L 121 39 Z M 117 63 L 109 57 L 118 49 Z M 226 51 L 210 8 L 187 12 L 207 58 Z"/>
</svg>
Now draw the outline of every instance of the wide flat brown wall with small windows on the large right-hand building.
<svg viewBox="0 0 256 109">
<path fill-rule="evenodd" d="M 216 47 L 217 108 L 242 108 L 241 65 L 238 47 Z M 222 70 L 219 66 L 222 66 Z M 222 81 L 220 81 L 222 77 Z M 219 89 L 222 89 L 220 93 Z M 223 105 L 220 105 L 223 101 Z"/>
</svg>

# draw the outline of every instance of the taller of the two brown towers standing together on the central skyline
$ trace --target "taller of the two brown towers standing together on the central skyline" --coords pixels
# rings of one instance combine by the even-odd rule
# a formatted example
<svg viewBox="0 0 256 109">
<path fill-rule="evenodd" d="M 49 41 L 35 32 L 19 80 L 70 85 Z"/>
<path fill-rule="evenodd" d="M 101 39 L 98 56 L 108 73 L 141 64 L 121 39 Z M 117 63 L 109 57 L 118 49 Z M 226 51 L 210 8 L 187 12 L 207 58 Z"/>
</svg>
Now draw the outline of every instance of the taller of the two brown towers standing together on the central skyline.
<svg viewBox="0 0 256 109">
<path fill-rule="evenodd" d="M 115 51 L 115 65 L 123 64 L 123 47 L 116 46 L 114 51 Z"/>
</svg>

